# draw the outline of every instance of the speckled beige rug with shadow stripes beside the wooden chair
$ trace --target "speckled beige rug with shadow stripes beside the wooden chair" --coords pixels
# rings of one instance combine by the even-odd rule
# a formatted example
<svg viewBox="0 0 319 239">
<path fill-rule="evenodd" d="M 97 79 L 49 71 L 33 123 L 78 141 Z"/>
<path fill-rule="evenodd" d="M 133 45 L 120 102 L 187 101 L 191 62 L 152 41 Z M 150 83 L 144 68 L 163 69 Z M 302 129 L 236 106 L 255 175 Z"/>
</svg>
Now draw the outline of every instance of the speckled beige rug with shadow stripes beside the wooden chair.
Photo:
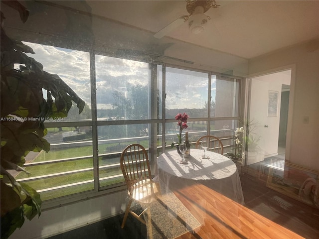
<svg viewBox="0 0 319 239">
<path fill-rule="evenodd" d="M 146 205 L 141 206 L 144 208 Z M 200 226 L 196 218 L 171 191 L 147 207 L 152 215 L 153 239 L 173 239 L 186 232 L 193 232 Z M 152 238 L 149 233 L 148 238 Z"/>
</svg>

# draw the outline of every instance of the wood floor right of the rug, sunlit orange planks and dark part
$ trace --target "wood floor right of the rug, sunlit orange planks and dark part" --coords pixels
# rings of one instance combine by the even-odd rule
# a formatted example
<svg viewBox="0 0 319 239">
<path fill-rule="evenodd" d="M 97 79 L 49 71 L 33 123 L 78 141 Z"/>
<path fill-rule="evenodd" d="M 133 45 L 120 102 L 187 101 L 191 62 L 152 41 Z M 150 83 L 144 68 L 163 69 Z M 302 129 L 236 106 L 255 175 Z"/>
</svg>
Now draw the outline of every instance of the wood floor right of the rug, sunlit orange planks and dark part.
<svg viewBox="0 0 319 239">
<path fill-rule="evenodd" d="M 278 195 L 249 175 L 241 178 L 245 206 L 201 184 L 172 189 L 202 224 L 177 239 L 319 238 L 317 209 Z"/>
</svg>

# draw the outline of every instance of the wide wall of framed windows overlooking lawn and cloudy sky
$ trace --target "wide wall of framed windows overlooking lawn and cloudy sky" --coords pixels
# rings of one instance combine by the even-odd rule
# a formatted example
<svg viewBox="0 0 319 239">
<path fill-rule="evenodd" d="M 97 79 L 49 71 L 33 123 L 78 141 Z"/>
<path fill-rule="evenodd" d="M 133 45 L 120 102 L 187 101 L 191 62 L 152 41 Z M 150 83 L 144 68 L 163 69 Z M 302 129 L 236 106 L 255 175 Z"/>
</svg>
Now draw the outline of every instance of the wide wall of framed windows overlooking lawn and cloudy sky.
<svg viewBox="0 0 319 239">
<path fill-rule="evenodd" d="M 14 175 L 36 189 L 42 200 L 123 186 L 123 148 L 142 144 L 154 166 L 156 158 L 171 150 L 171 142 L 177 139 L 174 117 L 178 113 L 190 116 L 186 131 L 192 147 L 200 136 L 212 134 L 222 138 L 225 152 L 230 150 L 239 119 L 238 79 L 26 44 L 34 49 L 32 57 L 44 70 L 59 75 L 86 103 L 80 115 L 74 105 L 68 118 L 45 121 L 51 150 L 31 152 L 25 164 L 31 175 Z"/>
</svg>

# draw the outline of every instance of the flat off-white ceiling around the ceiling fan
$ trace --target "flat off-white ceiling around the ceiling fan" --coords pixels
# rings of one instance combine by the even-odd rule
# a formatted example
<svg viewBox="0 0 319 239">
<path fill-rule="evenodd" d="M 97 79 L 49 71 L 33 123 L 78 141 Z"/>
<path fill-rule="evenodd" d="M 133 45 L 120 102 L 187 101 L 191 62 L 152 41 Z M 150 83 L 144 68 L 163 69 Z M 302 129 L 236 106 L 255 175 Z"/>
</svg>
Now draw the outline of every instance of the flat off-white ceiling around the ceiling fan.
<svg viewBox="0 0 319 239">
<path fill-rule="evenodd" d="M 187 24 L 165 37 L 250 59 L 319 37 L 319 0 L 216 0 L 204 32 L 191 34 Z M 184 0 L 54 1 L 81 11 L 156 33 L 188 14 Z M 89 6 L 89 7 L 88 7 Z M 91 9 L 90 9 L 91 8 Z"/>
</svg>

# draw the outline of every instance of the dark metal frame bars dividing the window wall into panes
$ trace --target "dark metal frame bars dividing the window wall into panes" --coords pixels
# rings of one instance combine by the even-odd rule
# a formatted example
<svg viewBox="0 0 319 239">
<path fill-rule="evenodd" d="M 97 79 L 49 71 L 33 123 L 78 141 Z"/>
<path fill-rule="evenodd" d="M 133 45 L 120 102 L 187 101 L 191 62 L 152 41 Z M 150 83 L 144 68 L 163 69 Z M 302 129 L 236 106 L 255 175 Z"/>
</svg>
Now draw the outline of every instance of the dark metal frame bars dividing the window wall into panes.
<svg viewBox="0 0 319 239">
<path fill-rule="evenodd" d="M 41 43 L 40 43 L 41 44 Z M 88 52 L 86 50 L 81 49 L 81 51 Z M 62 121 L 62 122 L 44 122 L 45 127 L 70 127 L 70 126 L 91 126 L 92 127 L 92 155 L 93 155 L 93 175 L 94 175 L 94 190 L 90 191 L 85 191 L 81 193 L 76 193 L 76 194 L 70 194 L 67 196 L 59 197 L 59 198 L 54 198 L 54 199 L 49 199 L 43 201 L 42 204 L 42 209 L 43 210 L 48 210 L 56 207 L 60 207 L 61 205 L 67 205 L 70 203 L 76 203 L 80 201 L 87 200 L 88 198 L 95 198 L 103 195 L 107 195 L 110 193 L 115 193 L 115 192 L 120 192 L 123 190 L 126 190 L 126 185 L 125 182 L 119 183 L 119 184 L 113 184 L 109 186 L 104 186 L 100 187 L 100 178 L 99 178 L 99 153 L 98 153 L 98 126 L 104 126 L 104 125 L 121 125 L 121 124 L 138 124 L 138 123 L 150 123 L 150 124 L 161 124 L 161 129 L 162 129 L 162 144 L 161 152 L 165 152 L 165 123 L 167 122 L 175 122 L 175 119 L 166 119 L 166 114 L 165 114 L 165 92 L 166 92 L 166 67 L 172 67 L 172 68 L 177 68 L 177 69 L 184 69 L 184 70 L 190 70 L 190 71 L 196 71 L 196 72 L 201 72 L 201 73 L 207 73 L 208 74 L 208 98 L 207 98 L 207 103 L 208 103 L 208 109 L 207 109 L 207 117 L 204 118 L 192 118 L 189 119 L 189 121 L 207 121 L 207 131 L 210 131 L 210 123 L 211 121 L 214 120 L 239 120 L 241 119 L 241 112 L 242 112 L 242 100 L 243 100 L 243 93 L 242 91 L 242 85 L 243 85 L 243 79 L 242 77 L 237 77 L 237 76 L 230 76 L 218 72 L 213 72 L 209 70 L 202 70 L 202 69 L 197 69 L 193 67 L 185 67 L 177 64 L 166 64 L 163 61 L 159 61 L 158 59 L 151 59 L 146 58 L 146 59 L 141 59 L 140 57 L 134 57 L 134 56 L 115 56 L 114 54 L 110 54 L 108 52 L 101 52 L 101 51 L 95 51 L 91 50 L 89 51 L 90 54 L 90 86 L 91 86 L 91 115 L 92 115 L 92 120 L 91 121 Z M 160 119 L 142 119 L 142 120 L 116 120 L 116 121 L 103 121 L 103 120 L 98 120 L 97 118 L 97 99 L 96 99 L 96 61 L 95 61 L 95 55 L 103 55 L 103 56 L 108 56 L 108 57 L 117 57 L 117 58 L 122 58 L 122 59 L 128 59 L 128 60 L 134 60 L 134 61 L 142 61 L 145 63 L 148 63 L 149 65 L 153 66 L 161 66 L 161 71 L 162 71 L 162 94 L 161 94 L 161 118 Z M 155 69 L 156 70 L 156 69 Z M 231 79 L 236 79 L 239 83 L 239 90 L 238 90 L 238 116 L 237 117 L 210 117 L 210 97 L 211 97 L 211 77 L 212 75 L 217 76 L 222 76 L 222 77 L 228 77 Z M 154 93 L 153 90 L 151 92 Z M 153 96 L 154 97 L 154 96 Z M 152 113 L 151 113 L 152 114 Z M 151 137 L 152 134 L 149 135 Z M 154 141 L 154 139 L 153 139 Z M 156 145 L 154 144 L 152 139 L 150 139 L 150 144 L 151 145 Z M 151 149 L 151 147 L 150 147 Z M 150 150 L 150 160 L 155 162 L 156 159 L 156 152 L 154 148 Z"/>
</svg>

